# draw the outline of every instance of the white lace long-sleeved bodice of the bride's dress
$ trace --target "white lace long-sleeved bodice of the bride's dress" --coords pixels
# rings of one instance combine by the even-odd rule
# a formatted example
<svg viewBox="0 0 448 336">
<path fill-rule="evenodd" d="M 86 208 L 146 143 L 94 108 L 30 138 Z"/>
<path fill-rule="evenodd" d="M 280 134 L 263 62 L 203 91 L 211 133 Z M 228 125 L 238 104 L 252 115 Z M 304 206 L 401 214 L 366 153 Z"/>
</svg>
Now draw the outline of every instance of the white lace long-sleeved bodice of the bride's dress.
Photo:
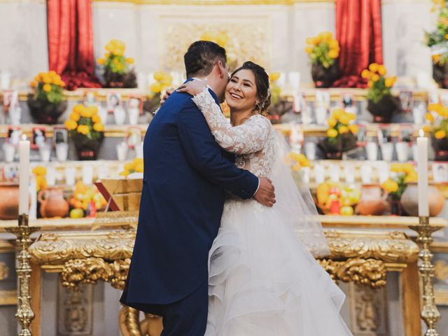
<svg viewBox="0 0 448 336">
<path fill-rule="evenodd" d="M 236 154 L 236 165 L 256 176 L 269 176 L 275 159 L 275 131 L 261 115 L 251 116 L 246 123 L 232 127 L 208 89 L 193 102 L 204 114 L 216 142 L 225 151 Z"/>
</svg>

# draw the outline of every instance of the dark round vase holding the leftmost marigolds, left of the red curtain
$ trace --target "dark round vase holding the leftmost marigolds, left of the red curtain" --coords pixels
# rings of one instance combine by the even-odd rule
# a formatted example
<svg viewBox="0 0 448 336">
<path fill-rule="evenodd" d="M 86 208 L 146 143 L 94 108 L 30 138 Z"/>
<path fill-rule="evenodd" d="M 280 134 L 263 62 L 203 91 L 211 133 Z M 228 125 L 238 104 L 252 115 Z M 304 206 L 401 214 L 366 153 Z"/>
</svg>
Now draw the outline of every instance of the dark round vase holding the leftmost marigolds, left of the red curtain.
<svg viewBox="0 0 448 336">
<path fill-rule="evenodd" d="M 57 120 L 67 108 L 67 102 L 53 104 L 43 99 L 34 98 L 33 94 L 28 94 L 27 104 L 29 113 L 38 124 L 55 125 Z"/>
</svg>

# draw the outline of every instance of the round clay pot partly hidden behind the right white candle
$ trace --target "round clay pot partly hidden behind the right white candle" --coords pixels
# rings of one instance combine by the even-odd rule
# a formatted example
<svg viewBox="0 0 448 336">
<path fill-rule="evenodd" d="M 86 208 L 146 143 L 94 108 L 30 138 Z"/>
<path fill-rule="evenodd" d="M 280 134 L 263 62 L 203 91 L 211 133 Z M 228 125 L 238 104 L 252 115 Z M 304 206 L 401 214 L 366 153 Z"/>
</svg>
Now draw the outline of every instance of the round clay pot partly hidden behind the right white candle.
<svg viewBox="0 0 448 336">
<path fill-rule="evenodd" d="M 429 186 L 429 216 L 437 216 L 443 209 L 445 197 L 435 188 Z M 403 209 L 409 216 L 419 216 L 419 190 L 417 183 L 409 183 L 403 195 L 401 196 Z"/>
</svg>

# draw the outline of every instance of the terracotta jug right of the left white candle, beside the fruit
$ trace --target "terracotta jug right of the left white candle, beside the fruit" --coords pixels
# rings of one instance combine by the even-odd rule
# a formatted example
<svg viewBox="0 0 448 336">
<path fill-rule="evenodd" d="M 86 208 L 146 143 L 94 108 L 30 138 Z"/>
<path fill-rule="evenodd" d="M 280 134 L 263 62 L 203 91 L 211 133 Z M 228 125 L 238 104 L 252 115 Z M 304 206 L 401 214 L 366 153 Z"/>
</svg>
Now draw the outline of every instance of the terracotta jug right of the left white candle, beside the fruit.
<svg viewBox="0 0 448 336">
<path fill-rule="evenodd" d="M 41 203 L 41 216 L 65 217 L 69 213 L 69 203 L 64 199 L 61 188 L 48 188 L 39 191 L 37 196 Z"/>
</svg>

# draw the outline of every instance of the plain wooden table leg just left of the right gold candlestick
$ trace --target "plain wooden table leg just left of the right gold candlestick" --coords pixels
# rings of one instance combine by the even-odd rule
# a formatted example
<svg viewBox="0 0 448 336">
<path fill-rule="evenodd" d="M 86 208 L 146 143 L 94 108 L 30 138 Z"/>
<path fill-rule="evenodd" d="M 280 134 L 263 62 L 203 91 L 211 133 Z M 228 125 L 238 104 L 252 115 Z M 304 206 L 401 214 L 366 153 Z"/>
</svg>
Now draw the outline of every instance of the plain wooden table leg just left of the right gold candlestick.
<svg viewBox="0 0 448 336">
<path fill-rule="evenodd" d="M 401 288 L 405 336 L 421 336 L 419 269 L 416 261 L 403 269 Z"/>
</svg>

